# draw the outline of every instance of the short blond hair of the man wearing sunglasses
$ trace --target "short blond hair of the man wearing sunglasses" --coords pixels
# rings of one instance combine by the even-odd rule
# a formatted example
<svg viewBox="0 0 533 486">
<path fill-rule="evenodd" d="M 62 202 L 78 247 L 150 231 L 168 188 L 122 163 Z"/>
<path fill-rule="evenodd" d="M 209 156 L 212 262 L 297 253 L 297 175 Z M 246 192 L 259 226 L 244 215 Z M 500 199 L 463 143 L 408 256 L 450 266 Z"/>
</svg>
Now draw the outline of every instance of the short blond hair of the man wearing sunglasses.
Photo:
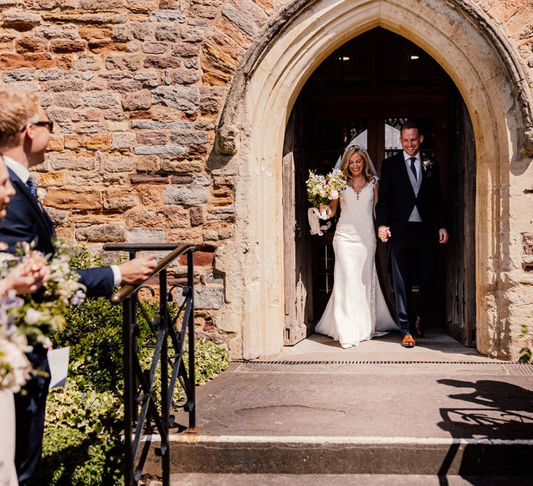
<svg viewBox="0 0 533 486">
<path fill-rule="evenodd" d="M 27 123 L 38 119 L 39 99 L 30 92 L 0 90 L 0 151 L 16 146 Z"/>
</svg>

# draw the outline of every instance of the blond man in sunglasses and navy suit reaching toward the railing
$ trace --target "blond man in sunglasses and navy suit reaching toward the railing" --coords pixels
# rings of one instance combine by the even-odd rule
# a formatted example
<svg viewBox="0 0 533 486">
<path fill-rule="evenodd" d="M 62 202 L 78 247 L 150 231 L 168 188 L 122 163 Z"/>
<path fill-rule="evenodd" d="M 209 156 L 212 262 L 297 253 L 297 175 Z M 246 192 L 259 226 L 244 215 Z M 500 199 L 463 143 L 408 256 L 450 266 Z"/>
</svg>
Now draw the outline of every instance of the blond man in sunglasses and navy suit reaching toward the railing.
<svg viewBox="0 0 533 486">
<path fill-rule="evenodd" d="M 37 197 L 30 174 L 30 169 L 44 162 L 52 131 L 53 122 L 35 94 L 0 90 L 0 154 L 16 192 L 0 221 L 0 242 L 7 243 L 10 251 L 15 251 L 18 242 L 33 242 L 35 249 L 45 254 L 55 250 L 53 221 Z M 153 258 L 135 258 L 122 265 L 79 271 L 79 281 L 87 287 L 87 296 L 109 296 L 119 284 L 142 283 L 155 265 Z M 34 369 L 49 373 L 46 353 L 36 344 L 28 359 Z M 37 374 L 26 383 L 23 393 L 15 394 L 15 466 L 21 485 L 31 478 L 41 455 L 49 381 L 49 376 Z"/>
</svg>

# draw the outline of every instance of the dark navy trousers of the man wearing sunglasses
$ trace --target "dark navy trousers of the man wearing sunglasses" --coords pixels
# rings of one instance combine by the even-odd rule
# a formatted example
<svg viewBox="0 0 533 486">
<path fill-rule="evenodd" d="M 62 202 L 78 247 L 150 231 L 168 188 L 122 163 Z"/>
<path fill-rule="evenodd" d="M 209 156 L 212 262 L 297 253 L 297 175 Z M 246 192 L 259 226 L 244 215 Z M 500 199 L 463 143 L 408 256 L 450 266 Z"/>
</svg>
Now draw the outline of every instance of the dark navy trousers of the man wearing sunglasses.
<svg viewBox="0 0 533 486">
<path fill-rule="evenodd" d="M 32 376 L 24 386 L 25 393 L 15 394 L 15 467 L 20 485 L 31 478 L 41 457 L 44 410 L 50 385 L 48 351 L 36 344 L 26 356 L 33 369 L 44 371 L 46 375 Z"/>
</svg>

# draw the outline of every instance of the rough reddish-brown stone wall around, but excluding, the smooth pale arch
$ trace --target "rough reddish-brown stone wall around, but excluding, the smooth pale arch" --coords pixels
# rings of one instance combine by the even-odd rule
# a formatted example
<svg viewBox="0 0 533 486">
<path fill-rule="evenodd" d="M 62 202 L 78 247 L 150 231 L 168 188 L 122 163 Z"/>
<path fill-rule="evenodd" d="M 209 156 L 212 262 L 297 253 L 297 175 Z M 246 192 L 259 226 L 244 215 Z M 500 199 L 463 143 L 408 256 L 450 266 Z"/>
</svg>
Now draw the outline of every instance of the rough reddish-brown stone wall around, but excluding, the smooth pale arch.
<svg viewBox="0 0 533 486">
<path fill-rule="evenodd" d="M 37 178 L 58 235 L 95 246 L 202 245 L 198 319 L 236 355 L 238 332 L 217 321 L 226 285 L 217 251 L 233 237 L 237 181 L 218 169 L 215 126 L 246 49 L 293 2 L 0 0 L 0 85 L 40 92 L 57 126 Z M 463 3 L 507 34 L 533 91 L 531 1 Z M 511 279 L 529 285 L 530 159 L 510 171 L 505 252 Z M 511 312 L 521 305 L 512 292 L 508 301 Z"/>
</svg>

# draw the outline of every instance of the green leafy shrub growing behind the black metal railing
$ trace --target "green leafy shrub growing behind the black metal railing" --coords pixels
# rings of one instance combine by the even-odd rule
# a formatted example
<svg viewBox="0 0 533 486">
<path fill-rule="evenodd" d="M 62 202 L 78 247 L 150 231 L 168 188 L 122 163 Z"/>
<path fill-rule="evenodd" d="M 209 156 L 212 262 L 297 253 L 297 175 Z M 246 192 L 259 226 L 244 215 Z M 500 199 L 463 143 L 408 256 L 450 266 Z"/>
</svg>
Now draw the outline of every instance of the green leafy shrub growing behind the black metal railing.
<svg viewBox="0 0 533 486">
<path fill-rule="evenodd" d="M 101 260 L 76 249 L 72 266 L 99 265 Z M 149 320 L 157 303 L 144 302 Z M 177 312 L 169 305 L 171 315 Z M 67 326 L 52 335 L 55 347 L 70 346 L 69 378 L 65 388 L 51 390 L 46 404 L 43 458 L 33 485 L 118 485 L 122 483 L 123 431 L 122 308 L 109 299 L 87 299 L 69 305 Z M 144 317 L 138 316 L 140 359 L 148 367 L 155 339 Z M 185 344 L 187 349 L 187 343 Z M 187 366 L 187 351 L 184 351 Z M 228 351 L 205 339 L 195 341 L 196 384 L 214 378 L 228 367 Z M 158 368 L 159 369 L 159 368 Z M 160 385 L 155 376 L 155 389 Z M 174 400 L 183 399 L 176 387 Z"/>
</svg>

